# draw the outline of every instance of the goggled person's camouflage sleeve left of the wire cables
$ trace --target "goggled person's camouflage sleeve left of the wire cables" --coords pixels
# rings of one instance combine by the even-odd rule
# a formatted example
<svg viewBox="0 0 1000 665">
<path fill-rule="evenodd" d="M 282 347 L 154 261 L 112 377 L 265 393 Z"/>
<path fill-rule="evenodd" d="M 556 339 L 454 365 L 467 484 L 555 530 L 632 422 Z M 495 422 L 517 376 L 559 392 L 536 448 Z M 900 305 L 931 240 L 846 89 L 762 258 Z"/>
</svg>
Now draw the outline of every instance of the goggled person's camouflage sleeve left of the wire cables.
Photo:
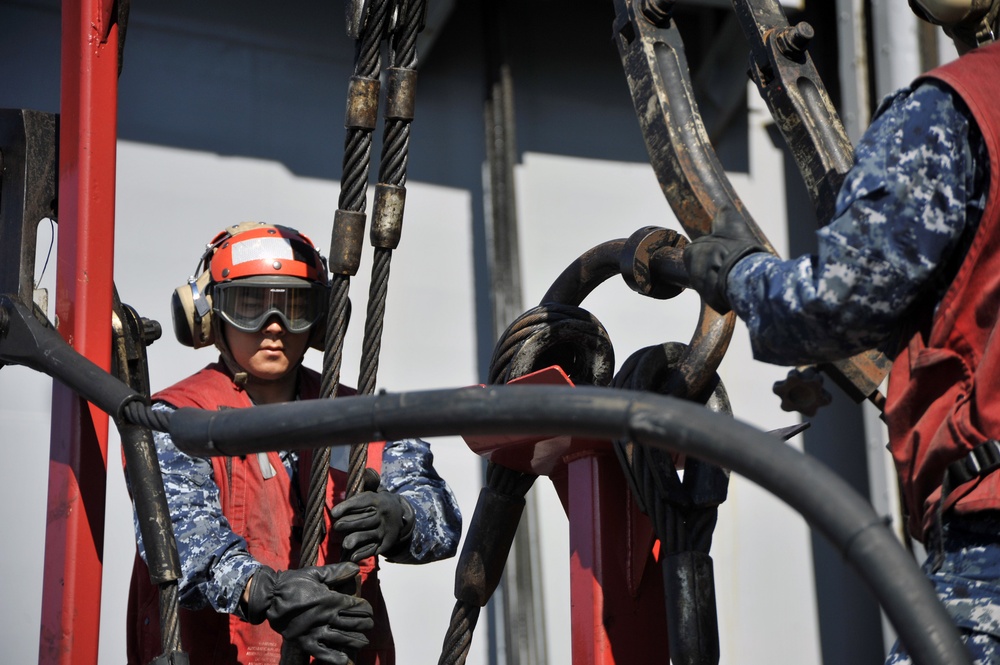
<svg viewBox="0 0 1000 665">
<path fill-rule="evenodd" d="M 162 403 L 153 408 L 172 410 Z M 180 602 L 189 609 L 212 607 L 217 612 L 234 613 L 247 579 L 260 564 L 222 515 L 211 462 L 181 452 L 165 432 L 154 432 L 153 441 L 181 562 Z M 135 533 L 139 554 L 145 560 L 137 518 Z"/>
</svg>

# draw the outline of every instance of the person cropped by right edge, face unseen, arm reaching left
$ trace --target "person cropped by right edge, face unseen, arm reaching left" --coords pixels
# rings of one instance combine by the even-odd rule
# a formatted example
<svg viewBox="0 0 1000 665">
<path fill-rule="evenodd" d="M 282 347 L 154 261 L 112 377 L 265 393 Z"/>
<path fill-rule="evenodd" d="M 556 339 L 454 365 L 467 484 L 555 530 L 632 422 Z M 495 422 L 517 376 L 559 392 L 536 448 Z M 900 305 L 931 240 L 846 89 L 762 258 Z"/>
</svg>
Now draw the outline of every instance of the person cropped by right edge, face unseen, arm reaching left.
<svg viewBox="0 0 1000 665">
<path fill-rule="evenodd" d="M 685 250 L 692 286 L 779 365 L 895 356 L 886 421 L 910 533 L 975 662 L 1000 663 L 1000 0 L 911 0 L 958 60 L 886 99 L 816 254 L 781 260 L 722 210 Z M 947 480 L 944 480 L 946 479 Z M 888 663 L 909 663 L 896 645 Z"/>
</svg>

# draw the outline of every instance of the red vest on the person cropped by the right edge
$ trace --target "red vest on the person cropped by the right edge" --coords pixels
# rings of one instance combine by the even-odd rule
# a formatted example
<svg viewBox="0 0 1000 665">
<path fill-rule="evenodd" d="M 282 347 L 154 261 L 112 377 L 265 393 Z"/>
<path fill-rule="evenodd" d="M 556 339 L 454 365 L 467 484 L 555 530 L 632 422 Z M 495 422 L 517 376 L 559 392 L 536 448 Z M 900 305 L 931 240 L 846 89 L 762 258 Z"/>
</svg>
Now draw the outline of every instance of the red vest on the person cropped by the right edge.
<svg viewBox="0 0 1000 665">
<path fill-rule="evenodd" d="M 958 274 L 929 322 L 897 356 L 889 376 L 886 422 L 909 530 L 922 539 L 934 523 L 946 468 L 1000 438 L 1000 44 L 970 51 L 925 75 L 946 83 L 972 112 L 990 158 L 986 209 Z M 945 509 L 1000 509 L 1000 473 L 949 492 Z"/>
</svg>

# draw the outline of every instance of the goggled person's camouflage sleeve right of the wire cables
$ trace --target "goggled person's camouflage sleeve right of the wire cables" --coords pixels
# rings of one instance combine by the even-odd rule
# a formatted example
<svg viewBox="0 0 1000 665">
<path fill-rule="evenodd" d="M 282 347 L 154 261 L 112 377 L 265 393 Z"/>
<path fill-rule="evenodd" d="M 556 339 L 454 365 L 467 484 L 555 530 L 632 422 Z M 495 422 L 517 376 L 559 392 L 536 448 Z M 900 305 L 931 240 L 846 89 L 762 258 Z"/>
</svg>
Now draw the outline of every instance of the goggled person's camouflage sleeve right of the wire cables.
<svg viewBox="0 0 1000 665">
<path fill-rule="evenodd" d="M 390 441 L 382 451 L 382 482 L 414 509 L 409 557 L 399 563 L 430 563 L 454 556 L 462 535 L 462 513 L 448 483 L 434 469 L 430 444 L 419 439 Z"/>
</svg>

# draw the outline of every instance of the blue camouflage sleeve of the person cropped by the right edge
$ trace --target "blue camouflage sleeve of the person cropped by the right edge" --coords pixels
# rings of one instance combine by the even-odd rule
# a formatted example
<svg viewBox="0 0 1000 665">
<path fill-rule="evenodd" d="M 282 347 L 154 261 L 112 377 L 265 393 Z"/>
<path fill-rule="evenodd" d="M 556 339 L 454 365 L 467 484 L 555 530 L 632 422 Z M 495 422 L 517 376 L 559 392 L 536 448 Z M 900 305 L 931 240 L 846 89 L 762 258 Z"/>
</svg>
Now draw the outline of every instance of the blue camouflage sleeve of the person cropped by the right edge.
<svg viewBox="0 0 1000 665">
<path fill-rule="evenodd" d="M 988 185 L 988 157 L 967 114 L 936 82 L 889 98 L 858 144 L 833 221 L 817 232 L 817 254 L 736 264 L 727 288 L 754 357 L 781 365 L 849 357 L 889 339 L 918 297 L 940 298 Z"/>
</svg>

